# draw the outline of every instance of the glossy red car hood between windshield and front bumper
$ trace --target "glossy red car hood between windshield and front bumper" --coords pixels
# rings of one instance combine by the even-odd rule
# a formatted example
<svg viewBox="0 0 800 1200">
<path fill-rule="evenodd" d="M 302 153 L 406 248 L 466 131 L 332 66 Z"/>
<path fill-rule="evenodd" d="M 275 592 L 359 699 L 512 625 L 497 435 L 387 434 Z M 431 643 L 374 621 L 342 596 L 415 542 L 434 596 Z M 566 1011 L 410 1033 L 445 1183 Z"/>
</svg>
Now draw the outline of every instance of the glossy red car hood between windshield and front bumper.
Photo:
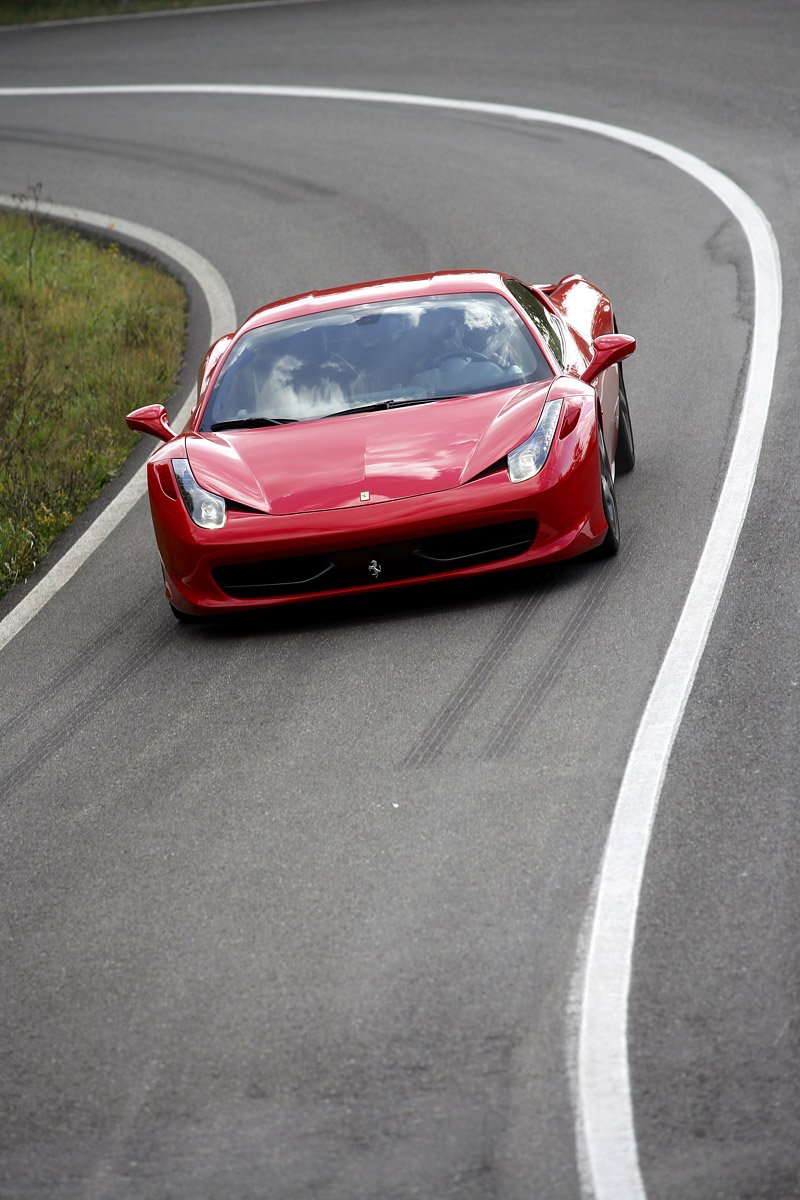
<svg viewBox="0 0 800 1200">
<path fill-rule="evenodd" d="M 440 492 L 493 466 L 534 430 L 546 383 L 296 425 L 190 433 L 204 487 L 276 516 Z M 366 497 L 365 497 L 366 499 Z"/>
</svg>

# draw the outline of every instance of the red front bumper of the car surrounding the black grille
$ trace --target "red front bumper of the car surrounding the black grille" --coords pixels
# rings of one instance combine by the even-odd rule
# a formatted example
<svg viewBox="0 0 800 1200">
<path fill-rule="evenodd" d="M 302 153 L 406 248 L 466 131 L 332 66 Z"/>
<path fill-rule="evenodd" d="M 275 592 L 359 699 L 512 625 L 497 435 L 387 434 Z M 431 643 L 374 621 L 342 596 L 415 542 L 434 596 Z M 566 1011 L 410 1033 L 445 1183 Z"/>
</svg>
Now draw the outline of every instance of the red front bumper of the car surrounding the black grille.
<svg viewBox="0 0 800 1200">
<path fill-rule="evenodd" d="M 523 484 L 498 469 L 446 492 L 355 508 L 293 516 L 233 509 L 213 530 L 166 494 L 152 463 L 149 487 L 167 595 L 194 616 L 557 562 L 597 546 L 607 528 L 594 418 L 559 439 Z"/>
</svg>

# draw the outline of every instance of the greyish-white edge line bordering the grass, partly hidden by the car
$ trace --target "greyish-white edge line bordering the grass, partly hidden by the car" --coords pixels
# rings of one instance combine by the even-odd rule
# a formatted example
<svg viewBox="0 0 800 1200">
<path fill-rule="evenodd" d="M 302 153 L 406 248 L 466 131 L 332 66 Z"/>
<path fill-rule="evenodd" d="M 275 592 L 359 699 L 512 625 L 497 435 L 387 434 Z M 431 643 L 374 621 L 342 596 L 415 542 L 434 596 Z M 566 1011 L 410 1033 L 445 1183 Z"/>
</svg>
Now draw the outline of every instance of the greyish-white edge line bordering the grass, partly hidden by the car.
<svg viewBox="0 0 800 1200">
<path fill-rule="evenodd" d="M 0 208 L 18 209 L 19 203 L 11 196 L 0 196 Z M 103 212 L 86 212 L 84 209 L 72 209 L 61 204 L 46 204 L 43 202 L 40 203 L 38 211 L 43 216 L 56 217 L 59 221 L 70 221 L 90 229 L 98 229 L 107 234 L 131 238 L 134 241 L 144 242 L 144 245 L 150 246 L 156 253 L 182 266 L 197 281 L 209 306 L 212 340 L 236 328 L 236 310 L 228 284 L 207 258 L 198 254 L 190 246 L 185 246 L 182 241 L 169 238 L 157 229 L 149 229 L 146 226 L 134 224 L 132 221 L 119 221 Z M 179 428 L 186 424 L 193 402 L 194 391 L 192 390 L 175 416 L 175 425 Z M 28 622 L 36 616 L 40 608 L 44 607 L 56 592 L 61 590 L 64 584 L 83 566 L 89 556 L 116 528 L 122 517 L 130 512 L 136 502 L 144 494 L 144 491 L 145 469 L 140 467 L 125 487 L 116 493 L 114 499 L 106 505 L 100 516 L 92 521 L 86 532 L 78 538 L 70 550 L 42 576 L 36 587 L 31 588 L 19 604 L 11 610 L 7 617 L 0 622 L 0 650 L 25 628 Z"/>
</svg>

